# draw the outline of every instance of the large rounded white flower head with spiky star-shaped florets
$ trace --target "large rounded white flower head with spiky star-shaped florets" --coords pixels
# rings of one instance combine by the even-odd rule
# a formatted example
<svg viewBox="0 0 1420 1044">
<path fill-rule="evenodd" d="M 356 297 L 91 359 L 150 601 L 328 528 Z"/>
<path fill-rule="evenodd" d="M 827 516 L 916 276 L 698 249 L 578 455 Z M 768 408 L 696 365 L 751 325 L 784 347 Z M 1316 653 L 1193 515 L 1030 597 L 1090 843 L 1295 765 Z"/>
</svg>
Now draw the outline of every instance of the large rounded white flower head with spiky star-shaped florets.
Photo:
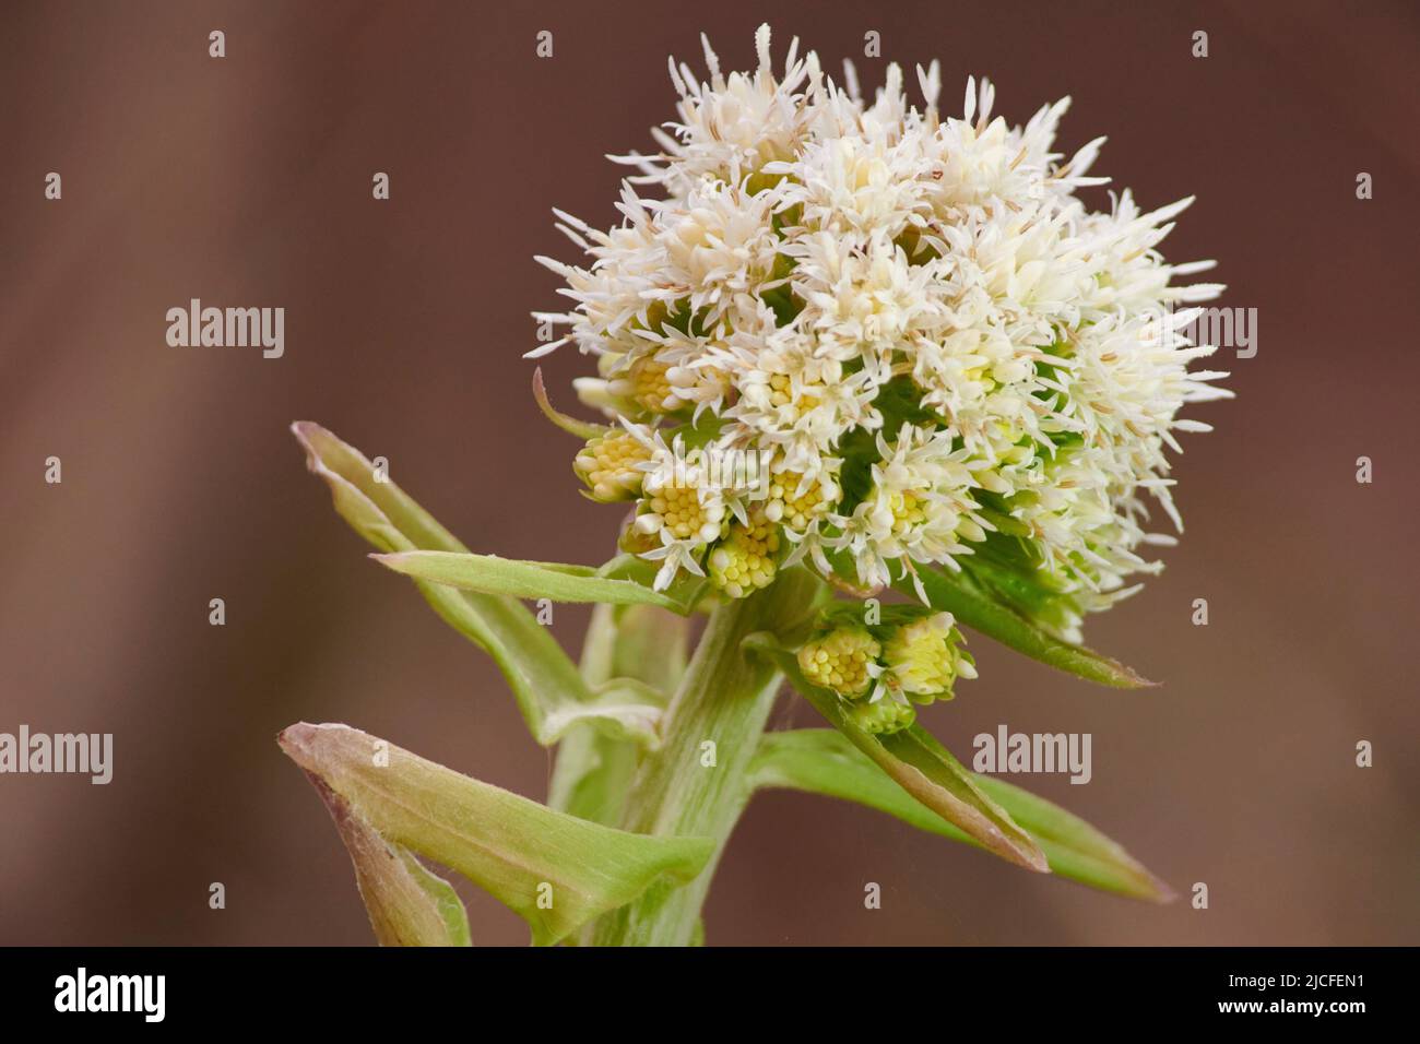
<svg viewBox="0 0 1420 1044">
<path fill-rule="evenodd" d="M 538 312 L 568 330 L 530 355 L 595 355 L 575 386 L 611 420 L 578 474 L 635 501 L 625 545 L 662 562 L 657 587 L 709 574 L 740 597 L 805 561 L 876 588 L 990 561 L 1068 597 L 1072 631 L 1157 570 L 1147 501 L 1180 526 L 1164 453 L 1207 430 L 1177 413 L 1227 395 L 1183 335 L 1220 287 L 1174 284 L 1210 263 L 1157 250 L 1190 200 L 1086 209 L 1103 139 L 1054 151 L 1068 101 L 1012 126 L 968 80 L 944 116 L 936 62 L 917 107 L 896 65 L 868 101 L 798 41 L 782 75 L 767 27 L 757 50 L 726 75 L 706 44 L 707 81 L 672 62 L 677 119 L 619 158 L 639 169 L 621 224 L 558 212 L 591 263 L 538 259 L 574 305 Z M 767 466 L 704 463 L 737 456 Z"/>
</svg>

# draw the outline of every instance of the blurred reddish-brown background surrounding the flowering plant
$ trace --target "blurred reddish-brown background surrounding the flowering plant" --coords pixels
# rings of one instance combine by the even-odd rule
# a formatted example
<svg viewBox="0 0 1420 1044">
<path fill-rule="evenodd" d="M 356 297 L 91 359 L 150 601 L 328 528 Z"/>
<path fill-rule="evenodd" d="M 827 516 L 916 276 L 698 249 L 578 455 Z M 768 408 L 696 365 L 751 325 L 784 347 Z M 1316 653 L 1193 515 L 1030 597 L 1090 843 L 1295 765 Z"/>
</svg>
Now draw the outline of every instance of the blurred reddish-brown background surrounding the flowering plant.
<svg viewBox="0 0 1420 1044">
<path fill-rule="evenodd" d="M 503 9 L 511 4 L 500 6 Z M 528 395 L 528 312 L 571 259 L 550 207 L 611 224 L 672 116 L 667 53 L 753 65 L 765 16 L 834 70 L 940 57 L 1217 257 L 1258 310 L 1235 403 L 1196 409 L 1167 572 L 1091 643 L 1166 685 L 1118 693 L 973 642 L 926 714 L 958 753 L 1007 723 L 1093 734 L 1093 781 L 1027 785 L 1211 905 L 1133 905 L 825 798 L 770 794 L 709 908 L 720 943 L 1416 943 L 1411 4 L 9 4 L 0 38 L 0 732 L 115 733 L 115 777 L 0 777 L 0 943 L 366 943 L 345 852 L 277 750 L 349 722 L 542 798 L 548 757 L 491 662 L 365 560 L 287 432 L 318 420 L 471 547 L 594 562 L 618 513 Z M 226 33 L 227 57 L 207 57 Z M 534 57 L 538 30 L 554 58 Z M 1194 30 L 1210 57 L 1190 55 Z M 43 196 L 62 175 L 61 202 Z M 371 199 L 373 172 L 392 199 Z M 1355 196 L 1358 172 L 1375 199 Z M 1103 190 L 1098 202 L 1105 205 Z M 285 358 L 169 348 L 165 312 L 283 305 Z M 585 372 L 567 351 L 550 384 Z M 64 482 L 44 483 L 62 459 Z M 1375 483 L 1355 460 L 1375 460 Z M 227 625 L 209 626 L 224 598 Z M 1207 598 L 1211 624 L 1190 624 Z M 578 646 L 585 614 L 558 609 Z M 812 723 L 787 710 L 780 723 Z M 1355 767 L 1358 740 L 1375 767 Z M 210 882 L 227 908 L 207 908 Z M 883 908 L 863 909 L 863 882 Z M 474 939 L 520 943 L 470 893 Z"/>
</svg>

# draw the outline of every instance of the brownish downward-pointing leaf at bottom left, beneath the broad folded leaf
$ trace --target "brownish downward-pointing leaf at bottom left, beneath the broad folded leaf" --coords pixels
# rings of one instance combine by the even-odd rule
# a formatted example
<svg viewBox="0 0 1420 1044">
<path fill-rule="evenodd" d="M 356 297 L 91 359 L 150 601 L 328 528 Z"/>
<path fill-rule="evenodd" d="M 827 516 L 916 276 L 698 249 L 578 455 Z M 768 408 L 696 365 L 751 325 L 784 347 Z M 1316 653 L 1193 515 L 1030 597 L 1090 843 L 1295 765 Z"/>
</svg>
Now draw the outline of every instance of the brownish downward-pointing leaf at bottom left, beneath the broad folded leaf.
<svg viewBox="0 0 1420 1044">
<path fill-rule="evenodd" d="M 381 946 L 471 946 L 457 892 L 403 845 L 379 835 L 320 776 L 307 773 L 355 865 L 355 883 Z"/>
</svg>

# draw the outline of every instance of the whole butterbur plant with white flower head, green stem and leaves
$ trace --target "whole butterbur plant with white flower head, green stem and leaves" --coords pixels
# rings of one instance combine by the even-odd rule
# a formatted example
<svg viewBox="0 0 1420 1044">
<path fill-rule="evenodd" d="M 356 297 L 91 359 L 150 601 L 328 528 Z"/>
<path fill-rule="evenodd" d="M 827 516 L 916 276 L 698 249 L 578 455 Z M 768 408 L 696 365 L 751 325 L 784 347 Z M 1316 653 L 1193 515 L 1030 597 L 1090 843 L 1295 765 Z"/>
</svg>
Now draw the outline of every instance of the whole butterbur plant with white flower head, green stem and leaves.
<svg viewBox="0 0 1420 1044">
<path fill-rule="evenodd" d="M 1159 243 L 1187 200 L 1108 212 L 1078 190 L 1102 139 L 1054 152 L 1066 102 L 1024 126 L 967 81 L 961 116 L 890 65 L 865 99 L 788 50 L 707 80 L 672 62 L 676 119 L 601 232 L 559 213 L 582 266 L 559 328 L 595 374 L 575 437 L 588 499 L 621 504 L 604 565 L 470 553 L 329 432 L 295 425 L 337 510 L 494 658 L 532 737 L 545 804 L 346 726 L 281 736 L 355 864 L 383 943 L 467 943 L 426 865 L 527 919 L 535 943 L 689 945 L 747 803 L 764 788 L 856 801 L 1017 866 L 1170 898 L 1123 848 L 964 768 L 919 722 L 978 682 L 964 632 L 1106 686 L 1150 685 L 1081 643 L 1086 614 L 1160 567 L 1179 528 L 1167 453 L 1224 374 L 1184 328 L 1216 284 Z M 589 371 L 591 368 L 588 368 Z M 565 396 L 571 399 L 571 396 Z M 588 418 L 596 418 L 588 419 Z M 557 435 L 557 437 L 562 437 Z M 592 509 L 589 509 L 592 510 Z M 574 663 L 528 599 L 595 604 Z M 703 628 L 692 624 L 703 616 Z M 699 634 L 689 652 L 693 632 Z M 788 686 L 828 727 L 765 732 Z M 951 709 L 933 712 L 951 733 Z M 960 734 L 954 741 L 960 741 Z M 713 932 L 713 926 L 711 926 Z M 476 935 L 476 933 L 474 933 Z"/>
</svg>

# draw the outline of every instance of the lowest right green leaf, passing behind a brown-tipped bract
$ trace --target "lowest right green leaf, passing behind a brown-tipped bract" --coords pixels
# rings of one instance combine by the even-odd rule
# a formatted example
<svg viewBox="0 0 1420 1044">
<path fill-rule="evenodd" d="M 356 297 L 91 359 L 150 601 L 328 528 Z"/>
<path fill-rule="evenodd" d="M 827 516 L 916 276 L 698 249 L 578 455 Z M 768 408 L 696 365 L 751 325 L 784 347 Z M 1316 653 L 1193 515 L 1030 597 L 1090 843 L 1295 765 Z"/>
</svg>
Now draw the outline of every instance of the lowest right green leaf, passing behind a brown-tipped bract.
<svg viewBox="0 0 1420 1044">
<path fill-rule="evenodd" d="M 784 787 L 855 801 L 919 830 L 980 845 L 946 822 L 832 729 L 771 733 L 760 743 L 755 787 Z M 1173 891 L 1120 845 L 1078 815 L 1004 780 L 974 774 L 977 785 L 1039 844 L 1051 871 L 1132 899 L 1170 902 Z"/>
</svg>

